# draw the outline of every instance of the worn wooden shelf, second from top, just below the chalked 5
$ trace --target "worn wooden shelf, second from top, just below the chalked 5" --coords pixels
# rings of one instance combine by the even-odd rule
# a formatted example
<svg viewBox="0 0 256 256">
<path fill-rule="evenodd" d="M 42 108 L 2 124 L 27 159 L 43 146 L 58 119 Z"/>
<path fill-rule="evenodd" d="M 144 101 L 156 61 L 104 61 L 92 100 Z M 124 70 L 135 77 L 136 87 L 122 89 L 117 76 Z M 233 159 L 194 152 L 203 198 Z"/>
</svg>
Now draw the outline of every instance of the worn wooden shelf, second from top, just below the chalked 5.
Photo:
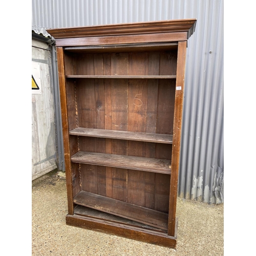
<svg viewBox="0 0 256 256">
<path fill-rule="evenodd" d="M 173 143 L 173 135 L 168 134 L 156 134 L 156 133 L 136 133 L 127 131 L 114 131 L 104 129 L 91 129 L 78 127 L 69 132 L 70 135 L 77 136 L 88 136 L 97 138 L 110 138 L 110 139 L 121 139 L 121 140 L 136 140 L 145 142 L 156 142 L 156 143 Z"/>
</svg>

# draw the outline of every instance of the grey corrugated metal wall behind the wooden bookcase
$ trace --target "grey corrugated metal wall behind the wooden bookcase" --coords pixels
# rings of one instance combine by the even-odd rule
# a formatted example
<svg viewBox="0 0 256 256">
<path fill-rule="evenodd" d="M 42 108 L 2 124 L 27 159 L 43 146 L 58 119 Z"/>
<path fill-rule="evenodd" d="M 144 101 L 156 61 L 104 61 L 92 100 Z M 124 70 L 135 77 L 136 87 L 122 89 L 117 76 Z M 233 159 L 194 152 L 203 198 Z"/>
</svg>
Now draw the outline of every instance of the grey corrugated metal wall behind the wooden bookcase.
<svg viewBox="0 0 256 256">
<path fill-rule="evenodd" d="M 32 29 L 197 18 L 188 40 L 179 196 L 223 202 L 223 0 L 32 0 Z"/>
</svg>

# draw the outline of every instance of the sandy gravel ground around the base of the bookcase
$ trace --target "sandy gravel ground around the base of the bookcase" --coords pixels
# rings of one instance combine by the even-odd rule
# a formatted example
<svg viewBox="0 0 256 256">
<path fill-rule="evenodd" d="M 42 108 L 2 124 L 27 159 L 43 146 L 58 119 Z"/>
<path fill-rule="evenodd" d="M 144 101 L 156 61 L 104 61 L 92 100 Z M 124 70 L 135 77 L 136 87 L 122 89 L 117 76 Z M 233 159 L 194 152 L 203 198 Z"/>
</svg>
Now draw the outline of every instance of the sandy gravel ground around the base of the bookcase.
<svg viewBox="0 0 256 256">
<path fill-rule="evenodd" d="M 223 255 L 224 205 L 178 198 L 176 250 L 66 225 L 65 174 L 32 185 L 32 255 Z"/>
</svg>

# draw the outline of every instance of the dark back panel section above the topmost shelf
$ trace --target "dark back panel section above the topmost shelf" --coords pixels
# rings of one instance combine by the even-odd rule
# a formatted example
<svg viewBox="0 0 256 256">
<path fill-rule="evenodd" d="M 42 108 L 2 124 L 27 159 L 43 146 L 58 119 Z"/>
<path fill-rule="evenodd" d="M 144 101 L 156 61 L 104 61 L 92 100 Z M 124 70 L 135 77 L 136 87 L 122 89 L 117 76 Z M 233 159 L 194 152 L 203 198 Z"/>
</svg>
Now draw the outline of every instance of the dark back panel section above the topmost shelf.
<svg viewBox="0 0 256 256">
<path fill-rule="evenodd" d="M 65 61 L 66 75 L 176 75 L 177 71 L 177 51 L 66 53 Z"/>
</svg>

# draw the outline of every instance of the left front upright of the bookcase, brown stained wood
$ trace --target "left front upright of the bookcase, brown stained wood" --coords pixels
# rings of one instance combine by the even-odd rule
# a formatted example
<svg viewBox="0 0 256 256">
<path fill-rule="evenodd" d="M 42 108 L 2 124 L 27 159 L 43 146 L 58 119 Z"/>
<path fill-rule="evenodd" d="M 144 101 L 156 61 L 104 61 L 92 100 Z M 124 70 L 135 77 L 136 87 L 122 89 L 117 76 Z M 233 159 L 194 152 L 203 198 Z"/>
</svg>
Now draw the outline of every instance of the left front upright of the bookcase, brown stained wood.
<svg viewBox="0 0 256 256">
<path fill-rule="evenodd" d="M 67 98 L 66 98 L 66 79 L 64 70 L 64 53 L 62 47 L 57 47 L 57 64 L 58 64 L 58 76 L 59 76 L 59 91 L 60 91 L 60 107 L 61 107 L 61 119 L 62 119 L 62 133 L 63 133 L 63 147 L 64 158 L 66 168 L 66 183 L 68 194 L 68 213 L 74 214 L 73 204 L 73 190 L 72 190 L 72 172 L 70 161 L 70 147 L 69 147 L 69 125 L 68 125 L 68 110 L 67 110 Z"/>
</svg>

